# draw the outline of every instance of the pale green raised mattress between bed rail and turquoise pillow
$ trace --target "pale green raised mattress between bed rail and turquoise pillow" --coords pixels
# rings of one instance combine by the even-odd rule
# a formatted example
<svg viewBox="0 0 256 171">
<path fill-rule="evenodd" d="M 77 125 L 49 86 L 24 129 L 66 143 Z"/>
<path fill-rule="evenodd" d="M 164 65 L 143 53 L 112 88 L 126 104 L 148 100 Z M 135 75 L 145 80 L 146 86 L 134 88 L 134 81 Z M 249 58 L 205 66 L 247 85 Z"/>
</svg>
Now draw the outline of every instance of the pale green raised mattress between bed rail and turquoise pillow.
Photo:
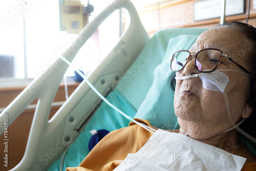
<svg viewBox="0 0 256 171">
<path fill-rule="evenodd" d="M 154 77 L 153 73 L 159 63 L 162 62 L 167 46 L 170 41 L 170 36 L 178 35 L 199 35 L 206 31 L 207 28 L 175 28 L 157 31 L 154 36 L 147 42 L 137 59 L 132 66 L 126 71 L 122 79 L 118 83 L 116 89 L 133 105 L 138 111 L 141 103 L 145 99 L 148 90 L 150 90 Z M 177 44 L 173 41 L 173 46 Z M 186 42 L 182 42 L 181 49 Z M 177 48 L 177 49 L 180 49 Z M 168 70 L 168 68 L 167 68 Z M 169 70 L 168 70 L 169 71 Z"/>
</svg>

